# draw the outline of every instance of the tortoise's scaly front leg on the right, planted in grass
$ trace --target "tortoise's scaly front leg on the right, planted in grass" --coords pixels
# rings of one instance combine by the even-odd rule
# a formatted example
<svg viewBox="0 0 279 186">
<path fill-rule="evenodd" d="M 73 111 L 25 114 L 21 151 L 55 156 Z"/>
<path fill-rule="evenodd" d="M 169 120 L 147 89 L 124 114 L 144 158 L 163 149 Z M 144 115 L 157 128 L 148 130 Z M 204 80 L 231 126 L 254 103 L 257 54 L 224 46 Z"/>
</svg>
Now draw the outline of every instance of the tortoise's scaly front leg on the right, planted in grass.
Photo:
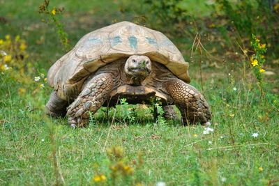
<svg viewBox="0 0 279 186">
<path fill-rule="evenodd" d="M 165 88 L 181 111 L 183 125 L 197 122 L 204 124 L 211 119 L 209 104 L 196 88 L 180 79 L 166 82 Z"/>
</svg>

